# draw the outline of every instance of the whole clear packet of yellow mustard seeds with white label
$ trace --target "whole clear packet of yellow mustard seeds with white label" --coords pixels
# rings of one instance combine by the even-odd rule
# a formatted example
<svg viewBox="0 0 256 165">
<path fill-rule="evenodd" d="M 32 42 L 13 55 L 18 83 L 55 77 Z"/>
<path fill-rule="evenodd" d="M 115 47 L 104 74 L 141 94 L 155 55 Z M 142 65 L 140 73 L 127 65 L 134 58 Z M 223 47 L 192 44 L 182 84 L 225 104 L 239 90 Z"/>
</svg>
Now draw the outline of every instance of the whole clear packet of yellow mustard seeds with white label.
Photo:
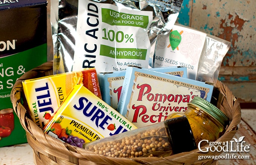
<svg viewBox="0 0 256 165">
<path fill-rule="evenodd" d="M 214 84 L 230 45 L 229 41 L 175 23 L 168 34 L 157 36 L 152 67 L 184 66 L 188 78 Z"/>
</svg>

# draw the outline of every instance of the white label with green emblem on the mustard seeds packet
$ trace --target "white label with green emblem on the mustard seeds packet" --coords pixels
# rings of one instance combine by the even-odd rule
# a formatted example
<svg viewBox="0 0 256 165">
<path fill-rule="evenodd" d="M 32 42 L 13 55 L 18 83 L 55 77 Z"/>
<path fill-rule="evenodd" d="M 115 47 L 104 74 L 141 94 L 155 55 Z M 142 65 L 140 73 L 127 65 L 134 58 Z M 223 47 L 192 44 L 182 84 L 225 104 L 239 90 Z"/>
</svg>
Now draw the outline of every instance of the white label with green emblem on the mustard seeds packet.
<svg viewBox="0 0 256 165">
<path fill-rule="evenodd" d="M 175 24 L 168 34 L 157 36 L 152 68 L 183 66 L 187 77 L 196 80 L 205 40 L 206 33 Z"/>
</svg>

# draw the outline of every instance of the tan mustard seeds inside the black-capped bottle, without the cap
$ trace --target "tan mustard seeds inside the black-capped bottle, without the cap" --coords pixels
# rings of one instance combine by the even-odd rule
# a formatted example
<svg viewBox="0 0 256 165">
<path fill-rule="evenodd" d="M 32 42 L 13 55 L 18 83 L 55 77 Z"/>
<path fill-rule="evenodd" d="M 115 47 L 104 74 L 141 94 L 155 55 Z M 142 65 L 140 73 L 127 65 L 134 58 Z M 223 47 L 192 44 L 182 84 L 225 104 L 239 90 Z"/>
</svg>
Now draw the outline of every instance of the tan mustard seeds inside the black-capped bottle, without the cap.
<svg viewBox="0 0 256 165">
<path fill-rule="evenodd" d="M 140 157 L 145 154 L 152 157 L 157 151 L 172 151 L 170 135 L 166 131 L 166 125 L 163 124 L 163 126 L 162 123 L 165 122 L 154 124 L 154 129 L 142 127 L 104 138 L 104 140 L 99 139 L 87 143 L 85 148 L 111 157 Z"/>
</svg>

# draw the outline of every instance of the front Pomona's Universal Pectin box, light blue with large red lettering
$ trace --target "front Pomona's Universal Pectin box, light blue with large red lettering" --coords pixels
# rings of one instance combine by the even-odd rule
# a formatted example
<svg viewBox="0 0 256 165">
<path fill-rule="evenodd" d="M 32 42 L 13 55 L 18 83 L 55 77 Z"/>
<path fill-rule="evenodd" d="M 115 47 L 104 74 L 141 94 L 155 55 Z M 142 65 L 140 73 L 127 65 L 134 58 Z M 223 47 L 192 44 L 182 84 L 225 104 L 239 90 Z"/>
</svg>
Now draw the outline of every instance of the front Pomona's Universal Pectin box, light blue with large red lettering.
<svg viewBox="0 0 256 165">
<path fill-rule="evenodd" d="M 213 86 L 201 81 L 128 67 L 117 111 L 137 127 L 165 120 L 184 112 L 195 96 L 210 102 Z"/>
</svg>

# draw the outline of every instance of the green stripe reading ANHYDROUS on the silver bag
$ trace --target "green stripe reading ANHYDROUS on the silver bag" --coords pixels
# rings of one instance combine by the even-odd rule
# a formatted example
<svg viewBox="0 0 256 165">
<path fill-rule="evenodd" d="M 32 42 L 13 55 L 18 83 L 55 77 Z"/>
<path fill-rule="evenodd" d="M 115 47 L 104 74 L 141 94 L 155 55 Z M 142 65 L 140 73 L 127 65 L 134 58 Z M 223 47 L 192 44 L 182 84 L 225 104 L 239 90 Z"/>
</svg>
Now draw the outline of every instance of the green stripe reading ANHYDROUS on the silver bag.
<svg viewBox="0 0 256 165">
<path fill-rule="evenodd" d="M 100 55 L 104 55 L 110 58 L 120 59 L 137 59 L 145 60 L 147 49 L 136 48 L 113 48 L 107 45 L 101 45 Z"/>
</svg>

